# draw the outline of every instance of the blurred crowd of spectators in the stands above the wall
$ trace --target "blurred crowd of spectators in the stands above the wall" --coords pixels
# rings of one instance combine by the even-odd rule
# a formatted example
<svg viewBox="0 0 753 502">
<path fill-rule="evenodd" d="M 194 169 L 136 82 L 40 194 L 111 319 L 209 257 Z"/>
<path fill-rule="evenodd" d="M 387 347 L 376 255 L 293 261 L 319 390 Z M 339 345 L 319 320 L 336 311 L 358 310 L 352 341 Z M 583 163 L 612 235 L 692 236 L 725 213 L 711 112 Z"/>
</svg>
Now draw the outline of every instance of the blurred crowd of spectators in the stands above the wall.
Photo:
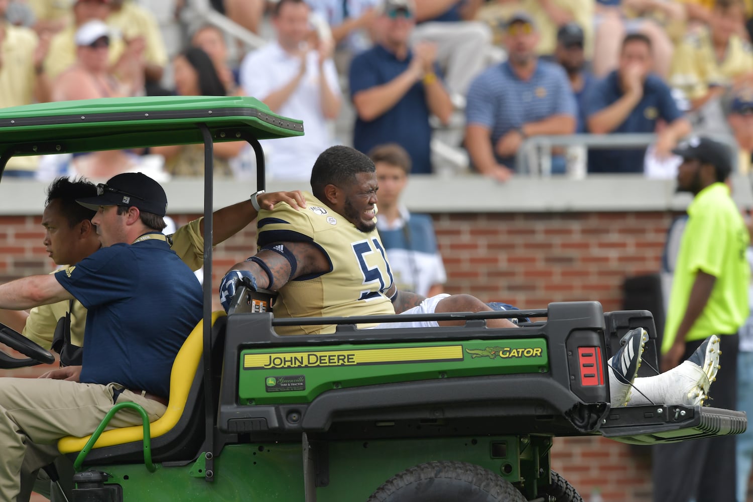
<svg viewBox="0 0 753 502">
<path fill-rule="evenodd" d="M 0 0 L 0 106 L 106 96 L 253 96 L 304 121 L 264 143 L 306 180 L 334 144 L 397 144 L 410 174 L 643 173 L 710 134 L 747 173 L 751 0 Z M 200 147 L 20 157 L 5 176 L 203 173 Z M 251 179 L 242 143 L 218 177 Z"/>
</svg>

